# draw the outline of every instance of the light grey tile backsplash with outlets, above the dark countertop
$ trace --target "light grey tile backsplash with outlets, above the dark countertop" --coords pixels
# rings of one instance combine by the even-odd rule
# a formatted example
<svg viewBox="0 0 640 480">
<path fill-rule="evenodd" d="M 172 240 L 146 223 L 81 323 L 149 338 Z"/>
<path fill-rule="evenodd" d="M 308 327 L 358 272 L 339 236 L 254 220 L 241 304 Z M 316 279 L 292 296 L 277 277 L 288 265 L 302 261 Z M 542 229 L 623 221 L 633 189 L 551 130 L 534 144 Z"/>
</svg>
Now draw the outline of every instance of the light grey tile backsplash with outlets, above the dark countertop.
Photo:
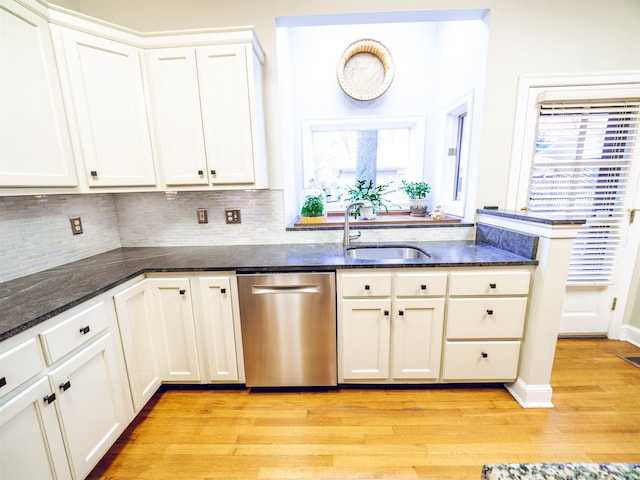
<svg viewBox="0 0 640 480">
<path fill-rule="evenodd" d="M 0 197 L 0 282 L 119 247 L 333 243 L 340 230 L 287 232 L 281 190 Z M 197 209 L 208 213 L 197 221 Z M 226 224 L 225 209 L 240 209 Z M 82 235 L 69 217 L 80 216 Z M 474 229 L 363 230 L 361 241 L 471 240 Z"/>
</svg>

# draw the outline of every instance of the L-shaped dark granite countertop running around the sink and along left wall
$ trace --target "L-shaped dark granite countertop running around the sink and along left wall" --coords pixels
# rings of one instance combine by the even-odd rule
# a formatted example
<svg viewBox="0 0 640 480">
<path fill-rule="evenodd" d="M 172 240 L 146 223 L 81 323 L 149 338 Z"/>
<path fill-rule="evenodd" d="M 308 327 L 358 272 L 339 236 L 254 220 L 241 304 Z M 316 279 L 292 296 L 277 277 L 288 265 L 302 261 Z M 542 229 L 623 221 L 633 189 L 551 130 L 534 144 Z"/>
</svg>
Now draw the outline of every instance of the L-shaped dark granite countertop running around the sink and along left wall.
<svg viewBox="0 0 640 480">
<path fill-rule="evenodd" d="M 237 273 L 376 267 L 535 265 L 537 261 L 473 241 L 411 242 L 427 261 L 371 263 L 345 257 L 340 244 L 120 248 L 0 283 L 0 341 L 148 272 Z"/>
</svg>

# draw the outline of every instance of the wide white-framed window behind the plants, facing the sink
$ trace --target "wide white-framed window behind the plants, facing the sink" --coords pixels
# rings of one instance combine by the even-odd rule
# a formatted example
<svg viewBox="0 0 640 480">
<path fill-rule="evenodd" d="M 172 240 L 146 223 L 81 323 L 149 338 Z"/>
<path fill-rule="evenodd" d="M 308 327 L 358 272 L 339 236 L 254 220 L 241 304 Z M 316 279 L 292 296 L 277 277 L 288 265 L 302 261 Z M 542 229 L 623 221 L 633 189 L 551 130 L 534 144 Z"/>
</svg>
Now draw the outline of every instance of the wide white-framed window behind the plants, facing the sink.
<svg viewBox="0 0 640 480">
<path fill-rule="evenodd" d="M 322 188 L 329 211 L 344 208 L 342 196 L 357 179 L 390 184 L 390 209 L 407 208 L 402 180 L 422 177 L 421 118 L 310 121 L 303 127 L 304 184 Z"/>
</svg>

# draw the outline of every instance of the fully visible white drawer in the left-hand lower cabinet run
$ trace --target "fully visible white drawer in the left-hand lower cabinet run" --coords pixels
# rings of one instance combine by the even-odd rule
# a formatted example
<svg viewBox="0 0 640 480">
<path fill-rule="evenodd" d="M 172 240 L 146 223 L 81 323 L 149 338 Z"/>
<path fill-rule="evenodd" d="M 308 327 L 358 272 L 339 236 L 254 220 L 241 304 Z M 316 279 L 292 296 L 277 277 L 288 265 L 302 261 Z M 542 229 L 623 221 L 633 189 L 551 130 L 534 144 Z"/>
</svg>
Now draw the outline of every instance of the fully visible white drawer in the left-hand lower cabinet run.
<svg viewBox="0 0 640 480">
<path fill-rule="evenodd" d="M 49 365 L 107 329 L 108 311 L 99 302 L 40 334 Z"/>
</svg>

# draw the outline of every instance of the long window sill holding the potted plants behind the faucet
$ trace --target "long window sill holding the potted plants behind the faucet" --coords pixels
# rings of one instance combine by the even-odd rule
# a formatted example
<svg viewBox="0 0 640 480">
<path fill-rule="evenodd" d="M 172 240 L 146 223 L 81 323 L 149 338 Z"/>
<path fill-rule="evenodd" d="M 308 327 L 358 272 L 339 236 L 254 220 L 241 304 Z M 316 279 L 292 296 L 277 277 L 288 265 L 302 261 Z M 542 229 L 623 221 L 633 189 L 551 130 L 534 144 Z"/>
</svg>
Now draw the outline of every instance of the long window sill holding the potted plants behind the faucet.
<svg viewBox="0 0 640 480">
<path fill-rule="evenodd" d="M 413 217 L 409 212 L 380 213 L 375 220 L 349 220 L 349 225 L 358 229 L 367 228 L 426 228 L 426 227 L 472 227 L 473 223 L 463 222 L 459 217 L 450 215 L 441 220 L 434 220 L 429 216 Z M 342 230 L 344 228 L 344 214 L 329 213 L 327 221 L 323 223 L 300 223 L 300 217 L 293 219 L 287 226 L 287 231 L 308 230 Z"/>
</svg>

